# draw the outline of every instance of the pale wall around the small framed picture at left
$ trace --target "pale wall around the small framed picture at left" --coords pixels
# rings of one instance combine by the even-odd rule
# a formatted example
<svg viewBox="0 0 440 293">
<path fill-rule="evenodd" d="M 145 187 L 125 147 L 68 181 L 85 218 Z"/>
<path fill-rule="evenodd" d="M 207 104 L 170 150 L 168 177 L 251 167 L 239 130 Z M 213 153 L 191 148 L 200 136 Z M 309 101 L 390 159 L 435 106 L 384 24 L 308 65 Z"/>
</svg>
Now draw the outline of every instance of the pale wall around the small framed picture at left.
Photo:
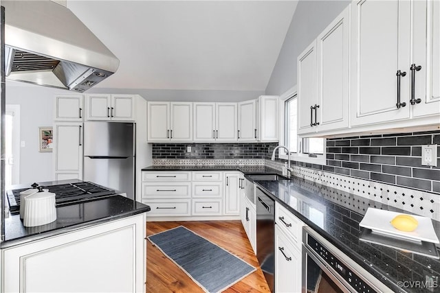
<svg viewBox="0 0 440 293">
<path fill-rule="evenodd" d="M 39 127 L 52 126 L 54 94 L 59 89 L 33 86 L 19 82 L 6 82 L 6 104 L 20 105 L 19 183 L 34 183 L 54 179 L 52 152 L 39 152 Z"/>
</svg>

